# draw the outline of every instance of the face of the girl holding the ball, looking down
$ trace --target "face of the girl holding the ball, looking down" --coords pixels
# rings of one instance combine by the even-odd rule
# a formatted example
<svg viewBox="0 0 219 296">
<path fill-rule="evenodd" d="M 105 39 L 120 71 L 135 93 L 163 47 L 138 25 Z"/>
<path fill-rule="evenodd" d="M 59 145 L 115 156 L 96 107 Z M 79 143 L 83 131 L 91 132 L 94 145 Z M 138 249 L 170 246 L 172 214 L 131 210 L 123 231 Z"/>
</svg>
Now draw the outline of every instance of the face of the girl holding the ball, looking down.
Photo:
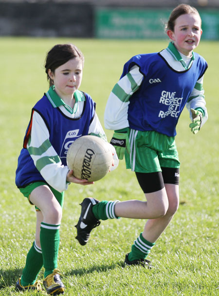
<svg viewBox="0 0 219 296">
<path fill-rule="evenodd" d="M 54 81 L 55 92 L 61 99 L 73 98 L 75 90 L 81 85 L 82 70 L 83 63 L 78 57 L 57 67 L 54 72 L 48 70 L 50 78 Z"/>
</svg>

